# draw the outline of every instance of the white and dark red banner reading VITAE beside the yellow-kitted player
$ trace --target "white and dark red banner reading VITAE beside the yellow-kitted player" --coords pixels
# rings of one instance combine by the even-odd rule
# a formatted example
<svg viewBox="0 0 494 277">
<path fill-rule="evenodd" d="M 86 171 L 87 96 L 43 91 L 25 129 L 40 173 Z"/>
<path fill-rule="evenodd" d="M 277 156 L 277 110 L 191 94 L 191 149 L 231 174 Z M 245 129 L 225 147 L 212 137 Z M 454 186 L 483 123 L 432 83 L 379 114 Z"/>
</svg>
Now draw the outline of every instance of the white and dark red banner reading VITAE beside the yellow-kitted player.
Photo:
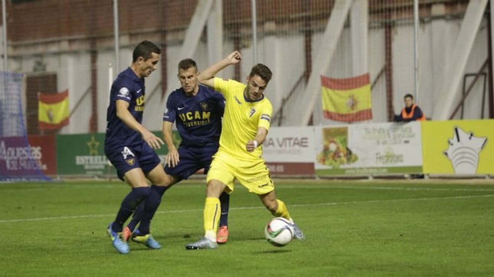
<svg viewBox="0 0 494 277">
<path fill-rule="evenodd" d="M 270 127 L 263 157 L 272 174 L 314 175 L 314 127 Z"/>
</svg>

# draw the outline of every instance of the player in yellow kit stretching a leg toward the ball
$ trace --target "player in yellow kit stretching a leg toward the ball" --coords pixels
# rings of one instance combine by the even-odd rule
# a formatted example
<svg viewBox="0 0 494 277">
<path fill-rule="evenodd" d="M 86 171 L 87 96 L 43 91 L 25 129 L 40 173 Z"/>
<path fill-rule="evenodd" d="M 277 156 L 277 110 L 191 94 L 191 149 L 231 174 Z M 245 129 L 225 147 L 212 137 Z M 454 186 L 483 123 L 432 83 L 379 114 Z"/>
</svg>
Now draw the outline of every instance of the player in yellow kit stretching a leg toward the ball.
<svg viewBox="0 0 494 277">
<path fill-rule="evenodd" d="M 259 196 L 274 216 L 291 222 L 294 236 L 304 234 L 293 223 L 285 203 L 276 198 L 274 184 L 262 158 L 262 143 L 266 139 L 273 107 L 263 92 L 272 73 L 263 64 L 255 65 L 247 77 L 247 85 L 235 80 L 214 78 L 225 67 L 242 59 L 238 51 L 210 66 L 199 75 L 199 81 L 223 94 L 226 100 L 218 152 L 207 173 L 206 203 L 204 207 L 205 236 L 185 246 L 186 249 L 214 249 L 218 228 L 220 201 L 223 191 L 233 192 L 234 180 Z"/>
</svg>

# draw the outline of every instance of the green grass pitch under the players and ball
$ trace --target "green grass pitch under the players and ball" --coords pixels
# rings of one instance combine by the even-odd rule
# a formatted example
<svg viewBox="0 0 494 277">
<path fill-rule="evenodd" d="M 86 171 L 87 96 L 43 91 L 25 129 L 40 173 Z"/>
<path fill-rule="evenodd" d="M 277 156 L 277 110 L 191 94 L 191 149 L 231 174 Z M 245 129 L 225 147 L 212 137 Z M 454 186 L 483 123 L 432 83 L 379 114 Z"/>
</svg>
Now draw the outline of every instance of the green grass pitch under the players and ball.
<svg viewBox="0 0 494 277">
<path fill-rule="evenodd" d="M 494 276 L 494 184 L 486 181 L 276 180 L 306 240 L 274 247 L 273 217 L 236 185 L 227 244 L 203 236 L 203 180 L 166 192 L 152 224 L 161 250 L 106 234 L 121 182 L 0 184 L 0 277 Z"/>
</svg>

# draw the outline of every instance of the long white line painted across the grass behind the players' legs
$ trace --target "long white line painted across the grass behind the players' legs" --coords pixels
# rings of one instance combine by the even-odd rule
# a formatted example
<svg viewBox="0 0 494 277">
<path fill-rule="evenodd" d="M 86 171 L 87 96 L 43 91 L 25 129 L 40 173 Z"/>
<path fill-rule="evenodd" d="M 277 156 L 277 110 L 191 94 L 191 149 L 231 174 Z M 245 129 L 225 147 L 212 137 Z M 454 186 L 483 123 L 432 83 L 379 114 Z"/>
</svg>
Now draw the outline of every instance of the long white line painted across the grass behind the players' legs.
<svg viewBox="0 0 494 277">
<path fill-rule="evenodd" d="M 289 207 L 311 207 L 311 206 L 328 206 L 328 205 L 342 205 L 342 204 L 361 204 L 361 203 L 381 203 L 381 202 L 401 202 L 401 201 L 423 201 L 423 200 L 443 200 L 443 199 L 467 199 L 467 198 L 486 198 L 494 197 L 494 195 L 467 195 L 467 196 L 452 196 L 452 197 L 431 197 L 431 198 L 400 198 L 400 199 L 380 199 L 380 200 L 364 200 L 364 201 L 345 201 L 345 202 L 328 202 L 328 203 L 312 203 L 312 204 L 291 204 Z M 231 210 L 250 210 L 250 209 L 264 209 L 264 206 L 252 206 L 252 207 L 234 207 Z M 184 213 L 184 212 L 201 212 L 203 209 L 191 209 L 191 210 L 171 210 L 171 211 L 159 211 L 161 213 Z M 92 218 L 92 217 L 107 217 L 115 216 L 115 214 L 95 214 L 95 215 L 74 215 L 74 216 L 57 216 L 57 217 L 40 217 L 40 218 L 26 218 L 26 219 L 8 219 L 0 220 L 0 223 L 8 222 L 23 222 L 23 221 L 45 221 L 56 219 L 77 219 L 77 218 Z"/>
</svg>

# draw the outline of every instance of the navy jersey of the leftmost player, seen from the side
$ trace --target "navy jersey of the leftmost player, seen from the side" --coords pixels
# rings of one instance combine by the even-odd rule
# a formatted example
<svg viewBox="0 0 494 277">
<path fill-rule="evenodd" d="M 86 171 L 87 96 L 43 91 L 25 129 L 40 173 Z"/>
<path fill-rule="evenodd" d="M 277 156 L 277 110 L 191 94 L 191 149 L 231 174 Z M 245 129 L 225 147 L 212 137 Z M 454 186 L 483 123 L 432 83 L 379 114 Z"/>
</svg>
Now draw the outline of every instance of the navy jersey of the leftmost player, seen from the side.
<svg viewBox="0 0 494 277">
<path fill-rule="evenodd" d="M 145 102 L 144 78 L 137 77 L 130 67 L 120 73 L 112 84 L 110 106 L 106 114 L 105 152 L 142 142 L 141 134 L 117 117 L 117 100 L 128 102 L 128 111 L 137 122 L 142 123 Z"/>
</svg>

